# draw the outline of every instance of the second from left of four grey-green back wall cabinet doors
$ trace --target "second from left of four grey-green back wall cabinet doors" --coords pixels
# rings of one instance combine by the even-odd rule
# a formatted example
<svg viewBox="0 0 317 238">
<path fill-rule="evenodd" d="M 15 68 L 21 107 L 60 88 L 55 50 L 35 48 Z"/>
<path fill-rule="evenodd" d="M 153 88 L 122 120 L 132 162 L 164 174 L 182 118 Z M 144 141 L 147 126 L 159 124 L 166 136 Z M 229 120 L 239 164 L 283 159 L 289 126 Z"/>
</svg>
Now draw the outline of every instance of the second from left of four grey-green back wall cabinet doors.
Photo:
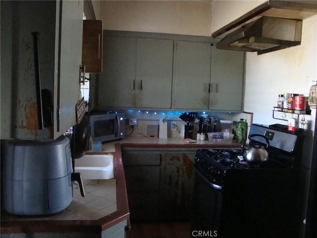
<svg viewBox="0 0 317 238">
<path fill-rule="evenodd" d="M 172 62 L 172 40 L 138 38 L 136 107 L 171 108 Z"/>
</svg>

